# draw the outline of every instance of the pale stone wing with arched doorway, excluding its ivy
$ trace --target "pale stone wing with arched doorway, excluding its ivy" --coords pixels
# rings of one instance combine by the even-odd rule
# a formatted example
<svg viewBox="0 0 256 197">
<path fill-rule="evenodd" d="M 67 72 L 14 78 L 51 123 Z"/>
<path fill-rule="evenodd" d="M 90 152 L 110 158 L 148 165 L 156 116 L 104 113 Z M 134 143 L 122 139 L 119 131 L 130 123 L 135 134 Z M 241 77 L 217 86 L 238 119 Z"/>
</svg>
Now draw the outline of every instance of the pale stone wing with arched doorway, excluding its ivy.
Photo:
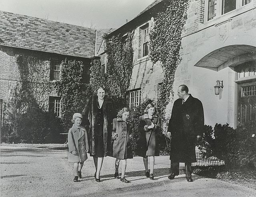
<svg viewBox="0 0 256 197">
<path fill-rule="evenodd" d="M 163 80 L 159 63 L 152 70 L 148 32 L 165 1 L 156 0 L 138 16 L 108 36 L 134 30 L 134 68 L 129 105 L 146 98 L 155 102 Z M 182 32 L 181 64 L 173 90 L 181 84 L 204 105 L 205 123 L 230 126 L 256 119 L 256 0 L 191 0 Z M 106 56 L 104 49 L 101 56 Z M 106 59 L 106 58 L 105 58 Z M 106 60 L 105 60 L 106 61 Z M 215 94 L 216 81 L 223 84 Z M 220 85 L 222 85 L 220 84 Z M 216 87 L 217 88 L 217 87 Z M 172 102 L 167 106 L 170 115 Z"/>
</svg>

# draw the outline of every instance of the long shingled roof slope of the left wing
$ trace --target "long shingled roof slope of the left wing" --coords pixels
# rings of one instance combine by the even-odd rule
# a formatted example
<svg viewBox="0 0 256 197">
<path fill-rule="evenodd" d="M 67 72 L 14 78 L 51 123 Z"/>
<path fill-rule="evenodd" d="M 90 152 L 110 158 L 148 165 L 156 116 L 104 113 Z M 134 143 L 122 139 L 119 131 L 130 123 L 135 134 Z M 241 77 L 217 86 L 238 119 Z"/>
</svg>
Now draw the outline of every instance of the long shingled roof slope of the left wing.
<svg viewBox="0 0 256 197">
<path fill-rule="evenodd" d="M 91 28 L 0 11 L 0 45 L 82 58 L 94 57 Z"/>
</svg>

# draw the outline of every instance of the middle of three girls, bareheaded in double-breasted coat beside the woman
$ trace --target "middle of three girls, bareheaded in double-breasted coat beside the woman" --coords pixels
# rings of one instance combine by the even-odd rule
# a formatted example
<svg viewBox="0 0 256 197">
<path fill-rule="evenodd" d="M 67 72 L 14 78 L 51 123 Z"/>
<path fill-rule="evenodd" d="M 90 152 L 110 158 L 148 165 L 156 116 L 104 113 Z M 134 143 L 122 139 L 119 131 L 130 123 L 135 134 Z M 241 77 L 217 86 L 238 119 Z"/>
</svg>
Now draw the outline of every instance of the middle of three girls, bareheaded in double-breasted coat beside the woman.
<svg viewBox="0 0 256 197">
<path fill-rule="evenodd" d="M 114 139 L 113 144 L 113 157 L 116 158 L 116 173 L 115 178 L 118 177 L 118 167 L 120 160 L 122 159 L 122 175 L 121 181 L 124 183 L 129 183 L 129 181 L 124 178 L 124 173 L 126 170 L 126 159 L 132 159 L 132 147 L 130 144 L 130 137 L 134 133 L 134 123 L 129 120 L 130 110 L 128 107 L 124 107 L 119 111 L 117 118 L 113 119 L 113 132 L 112 139 Z"/>
</svg>

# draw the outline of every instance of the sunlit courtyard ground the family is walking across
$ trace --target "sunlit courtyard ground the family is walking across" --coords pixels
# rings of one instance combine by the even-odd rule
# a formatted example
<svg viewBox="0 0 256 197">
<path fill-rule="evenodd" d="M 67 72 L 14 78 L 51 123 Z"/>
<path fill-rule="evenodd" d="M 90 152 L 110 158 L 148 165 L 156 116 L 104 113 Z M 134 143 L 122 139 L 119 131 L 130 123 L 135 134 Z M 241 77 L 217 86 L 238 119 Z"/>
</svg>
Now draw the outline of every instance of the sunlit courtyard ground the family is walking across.
<svg viewBox="0 0 256 197">
<path fill-rule="evenodd" d="M 104 159 L 102 182 L 97 183 L 89 157 L 83 178 L 75 183 L 67 151 L 1 146 L 1 196 L 256 196 L 256 190 L 197 175 L 192 176 L 192 183 L 185 175 L 169 180 L 168 156 L 156 157 L 154 181 L 144 176 L 142 158 L 128 159 L 126 179 L 130 183 L 122 183 L 113 178 L 114 161 L 112 157 Z"/>
</svg>

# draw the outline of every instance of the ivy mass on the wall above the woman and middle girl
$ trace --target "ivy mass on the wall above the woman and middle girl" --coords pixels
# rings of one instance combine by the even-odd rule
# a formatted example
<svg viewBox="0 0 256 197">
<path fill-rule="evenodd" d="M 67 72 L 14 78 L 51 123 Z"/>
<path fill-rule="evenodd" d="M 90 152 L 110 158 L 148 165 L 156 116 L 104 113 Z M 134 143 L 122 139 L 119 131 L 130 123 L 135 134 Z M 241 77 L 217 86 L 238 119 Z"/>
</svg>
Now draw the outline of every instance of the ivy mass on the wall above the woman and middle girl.
<svg viewBox="0 0 256 197">
<path fill-rule="evenodd" d="M 101 73 L 100 61 L 93 60 L 90 75 L 92 89 L 98 85 L 107 87 L 108 95 L 116 101 L 118 107 L 126 105 L 127 90 L 130 86 L 130 78 L 133 68 L 132 50 L 133 32 L 127 32 L 126 36 L 118 34 L 105 39 L 105 50 L 108 58 L 106 73 Z"/>
</svg>

